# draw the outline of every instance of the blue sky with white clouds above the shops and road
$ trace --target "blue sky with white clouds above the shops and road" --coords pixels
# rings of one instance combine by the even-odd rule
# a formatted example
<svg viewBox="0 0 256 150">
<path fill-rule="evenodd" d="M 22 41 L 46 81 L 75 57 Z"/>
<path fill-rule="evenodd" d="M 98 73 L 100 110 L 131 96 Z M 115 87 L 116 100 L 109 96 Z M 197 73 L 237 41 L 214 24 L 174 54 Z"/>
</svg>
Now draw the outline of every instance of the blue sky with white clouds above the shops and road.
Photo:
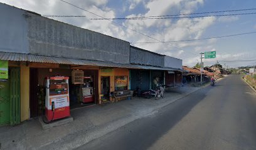
<svg viewBox="0 0 256 150">
<path fill-rule="evenodd" d="M 194 12 L 225 11 L 233 9 L 256 8 L 255 0 L 65 0 L 95 12 L 100 16 L 137 17 L 158 16 L 166 14 L 183 14 Z M 59 0 L 0 0 L 18 8 L 35 11 L 39 14 L 58 15 L 85 15 L 95 18 L 93 14 L 74 8 Z M 256 12 L 247 11 L 247 12 Z M 224 14 L 224 13 L 221 13 Z M 227 13 L 225 13 L 227 14 Z M 161 54 L 183 59 L 183 65 L 194 66 L 200 59 L 201 52 L 216 51 L 216 59 L 203 60 L 206 65 L 220 61 L 229 67 L 256 65 L 250 62 L 224 62 L 256 59 L 256 34 L 225 37 L 221 39 L 208 39 L 193 42 L 171 42 L 138 44 L 136 42 L 156 42 L 124 27 L 117 26 L 110 21 L 88 20 L 86 18 L 53 18 L 75 26 L 101 32 L 109 36 L 132 42 L 134 46 Z M 154 37 L 159 41 L 179 41 L 184 39 L 200 39 L 203 37 L 225 36 L 242 32 L 256 31 L 256 14 L 227 17 L 202 17 L 183 19 L 151 19 L 151 20 L 122 20 L 117 21 L 136 31 Z"/>
</svg>

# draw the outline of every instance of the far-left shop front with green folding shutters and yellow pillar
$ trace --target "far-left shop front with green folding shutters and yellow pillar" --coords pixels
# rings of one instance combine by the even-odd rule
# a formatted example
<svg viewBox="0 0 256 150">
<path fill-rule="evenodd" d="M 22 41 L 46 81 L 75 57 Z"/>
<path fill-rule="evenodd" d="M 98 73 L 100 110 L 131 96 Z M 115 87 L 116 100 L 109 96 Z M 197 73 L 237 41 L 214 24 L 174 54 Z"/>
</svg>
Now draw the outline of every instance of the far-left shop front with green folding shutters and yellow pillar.
<svg viewBox="0 0 256 150">
<path fill-rule="evenodd" d="M 3 66 L 3 64 L 5 64 Z M 24 63 L 0 60 L 0 125 L 29 119 L 29 70 Z M 3 70 L 6 75 L 3 76 Z"/>
</svg>

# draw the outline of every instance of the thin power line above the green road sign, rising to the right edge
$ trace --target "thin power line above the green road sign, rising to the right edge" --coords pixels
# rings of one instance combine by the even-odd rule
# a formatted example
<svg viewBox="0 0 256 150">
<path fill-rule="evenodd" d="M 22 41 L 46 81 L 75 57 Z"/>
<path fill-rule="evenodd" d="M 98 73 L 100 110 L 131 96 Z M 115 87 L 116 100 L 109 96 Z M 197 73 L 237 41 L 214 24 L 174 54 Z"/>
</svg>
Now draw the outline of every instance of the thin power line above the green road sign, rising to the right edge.
<svg viewBox="0 0 256 150">
<path fill-rule="evenodd" d="M 200 41 L 200 40 L 205 40 L 205 39 L 218 39 L 218 38 L 223 38 L 223 37 L 232 37 L 232 36 L 242 36 L 245 34 L 253 34 L 256 33 L 254 32 L 243 32 L 243 33 L 238 33 L 238 34 L 230 34 L 226 36 L 213 36 L 213 37 L 205 37 L 201 39 L 184 39 L 184 40 L 179 40 L 179 41 L 163 41 L 163 42 L 187 42 L 187 41 Z M 152 44 L 152 43 L 157 43 L 157 42 L 133 42 L 133 44 L 140 44 L 140 43 L 145 43 L 145 44 Z"/>
</svg>

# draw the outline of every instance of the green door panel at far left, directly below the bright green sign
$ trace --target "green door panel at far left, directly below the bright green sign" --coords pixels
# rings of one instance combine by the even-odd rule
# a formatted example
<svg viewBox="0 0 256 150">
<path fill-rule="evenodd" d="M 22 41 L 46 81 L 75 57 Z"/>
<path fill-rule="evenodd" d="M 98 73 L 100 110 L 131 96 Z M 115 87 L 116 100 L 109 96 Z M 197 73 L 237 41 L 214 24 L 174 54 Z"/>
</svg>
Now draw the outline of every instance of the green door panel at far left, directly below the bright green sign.
<svg viewBox="0 0 256 150">
<path fill-rule="evenodd" d="M 11 121 L 10 81 L 0 81 L 0 125 Z"/>
</svg>

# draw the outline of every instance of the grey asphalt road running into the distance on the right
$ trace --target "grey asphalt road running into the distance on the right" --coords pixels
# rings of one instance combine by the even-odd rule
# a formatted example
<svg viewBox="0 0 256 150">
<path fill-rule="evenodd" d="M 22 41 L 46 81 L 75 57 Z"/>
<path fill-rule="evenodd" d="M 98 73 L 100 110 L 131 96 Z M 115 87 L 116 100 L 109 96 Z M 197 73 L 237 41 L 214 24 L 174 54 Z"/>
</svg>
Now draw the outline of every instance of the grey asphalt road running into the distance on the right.
<svg viewBox="0 0 256 150">
<path fill-rule="evenodd" d="M 256 149 L 256 94 L 229 75 L 78 149 Z"/>
</svg>

